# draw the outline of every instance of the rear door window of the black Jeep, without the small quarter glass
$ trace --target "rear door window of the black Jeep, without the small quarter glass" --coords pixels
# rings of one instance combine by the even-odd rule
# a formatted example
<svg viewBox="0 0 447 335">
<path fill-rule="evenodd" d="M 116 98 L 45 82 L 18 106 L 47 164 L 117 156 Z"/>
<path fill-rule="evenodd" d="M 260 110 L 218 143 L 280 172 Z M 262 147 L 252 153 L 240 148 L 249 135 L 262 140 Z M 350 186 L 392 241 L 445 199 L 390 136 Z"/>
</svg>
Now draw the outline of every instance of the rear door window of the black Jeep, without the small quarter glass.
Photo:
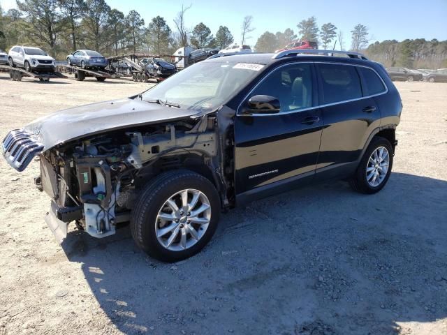
<svg viewBox="0 0 447 335">
<path fill-rule="evenodd" d="M 338 103 L 362 97 L 360 77 L 355 66 L 318 64 L 323 84 L 323 103 Z"/>
</svg>

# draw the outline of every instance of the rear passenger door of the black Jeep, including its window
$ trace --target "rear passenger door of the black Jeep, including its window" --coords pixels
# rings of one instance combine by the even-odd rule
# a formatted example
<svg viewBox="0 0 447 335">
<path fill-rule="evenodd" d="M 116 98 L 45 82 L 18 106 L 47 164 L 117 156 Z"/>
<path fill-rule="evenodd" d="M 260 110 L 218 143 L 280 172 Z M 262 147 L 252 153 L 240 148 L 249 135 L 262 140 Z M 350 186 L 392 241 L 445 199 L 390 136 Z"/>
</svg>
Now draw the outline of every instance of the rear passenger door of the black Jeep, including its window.
<svg viewBox="0 0 447 335">
<path fill-rule="evenodd" d="M 366 68 L 363 82 L 358 66 L 321 63 L 316 68 L 324 119 L 316 179 L 342 177 L 351 173 L 369 134 L 380 125 L 377 89 L 372 94 L 367 87 L 374 80 L 382 85 L 381 93 L 386 87 L 372 68 Z"/>
</svg>

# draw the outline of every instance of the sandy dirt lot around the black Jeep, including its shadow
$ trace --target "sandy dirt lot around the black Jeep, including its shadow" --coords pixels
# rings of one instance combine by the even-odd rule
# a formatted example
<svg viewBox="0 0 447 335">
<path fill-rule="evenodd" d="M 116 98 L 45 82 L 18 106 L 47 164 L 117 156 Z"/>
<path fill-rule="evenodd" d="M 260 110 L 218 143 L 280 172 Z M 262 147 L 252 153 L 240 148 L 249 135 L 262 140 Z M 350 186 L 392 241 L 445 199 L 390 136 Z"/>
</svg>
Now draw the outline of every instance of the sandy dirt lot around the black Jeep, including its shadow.
<svg viewBox="0 0 447 335">
<path fill-rule="evenodd" d="M 100 240 L 71 227 L 59 246 L 37 164 L 20 174 L 0 158 L 0 334 L 447 334 L 447 84 L 396 85 L 383 191 L 337 181 L 254 202 L 176 265 L 138 251 L 128 228 Z M 0 137 L 145 87 L 0 74 Z"/>
</svg>

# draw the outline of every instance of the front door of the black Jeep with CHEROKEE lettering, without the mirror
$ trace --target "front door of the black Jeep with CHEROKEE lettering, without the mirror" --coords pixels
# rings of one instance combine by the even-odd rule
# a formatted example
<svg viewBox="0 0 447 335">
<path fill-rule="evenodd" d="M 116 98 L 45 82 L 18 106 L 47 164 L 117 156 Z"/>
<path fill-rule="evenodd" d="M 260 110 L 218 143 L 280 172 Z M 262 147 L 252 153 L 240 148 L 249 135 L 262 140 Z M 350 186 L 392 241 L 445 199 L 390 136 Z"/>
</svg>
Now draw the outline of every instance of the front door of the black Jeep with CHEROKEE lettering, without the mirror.
<svg viewBox="0 0 447 335">
<path fill-rule="evenodd" d="M 254 194 L 261 198 L 313 177 L 323 127 L 315 83 L 312 63 L 280 66 L 263 77 L 241 103 L 235 117 L 239 199 Z M 249 98 L 259 95 L 279 99 L 281 110 L 244 114 Z"/>
</svg>

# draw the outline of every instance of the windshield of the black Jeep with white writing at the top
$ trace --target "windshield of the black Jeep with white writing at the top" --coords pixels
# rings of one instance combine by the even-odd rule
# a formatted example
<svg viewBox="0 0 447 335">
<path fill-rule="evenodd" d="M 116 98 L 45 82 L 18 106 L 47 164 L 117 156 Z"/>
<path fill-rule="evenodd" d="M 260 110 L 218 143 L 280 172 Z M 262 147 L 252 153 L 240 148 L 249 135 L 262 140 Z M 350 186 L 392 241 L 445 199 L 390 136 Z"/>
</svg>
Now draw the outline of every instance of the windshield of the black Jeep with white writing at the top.
<svg viewBox="0 0 447 335">
<path fill-rule="evenodd" d="M 261 64 L 216 59 L 194 64 L 142 94 L 189 110 L 210 111 L 226 103 L 264 68 Z"/>
</svg>

